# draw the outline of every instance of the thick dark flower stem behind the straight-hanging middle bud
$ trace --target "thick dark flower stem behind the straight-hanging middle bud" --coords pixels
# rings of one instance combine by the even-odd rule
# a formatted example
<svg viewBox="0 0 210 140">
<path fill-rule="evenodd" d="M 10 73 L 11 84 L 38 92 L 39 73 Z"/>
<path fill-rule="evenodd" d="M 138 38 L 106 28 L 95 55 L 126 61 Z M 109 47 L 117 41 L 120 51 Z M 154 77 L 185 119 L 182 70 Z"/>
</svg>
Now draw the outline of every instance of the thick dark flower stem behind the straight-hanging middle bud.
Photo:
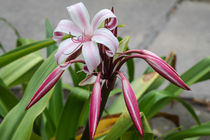
<svg viewBox="0 0 210 140">
<path fill-rule="evenodd" d="M 111 78 L 108 82 L 108 85 L 106 83 L 103 84 L 102 89 L 101 89 L 101 107 L 100 107 L 100 114 L 99 114 L 99 120 L 103 114 L 104 108 L 106 106 L 109 93 L 111 90 L 114 88 L 116 78 Z M 90 140 L 90 133 L 89 133 L 89 124 L 87 122 L 85 126 L 85 130 L 83 132 L 81 140 Z"/>
</svg>

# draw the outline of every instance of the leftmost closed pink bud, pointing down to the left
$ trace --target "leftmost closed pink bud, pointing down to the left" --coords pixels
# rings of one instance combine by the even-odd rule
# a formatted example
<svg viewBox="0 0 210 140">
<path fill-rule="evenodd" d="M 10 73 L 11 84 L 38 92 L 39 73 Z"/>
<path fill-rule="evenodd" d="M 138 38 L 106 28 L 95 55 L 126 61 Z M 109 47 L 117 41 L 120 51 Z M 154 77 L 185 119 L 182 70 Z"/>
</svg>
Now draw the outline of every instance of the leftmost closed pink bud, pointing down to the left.
<svg viewBox="0 0 210 140">
<path fill-rule="evenodd" d="M 26 110 L 28 110 L 32 105 L 38 102 L 50 89 L 53 88 L 53 86 L 60 79 L 63 72 L 64 70 L 62 70 L 60 67 L 57 67 L 55 70 L 53 70 L 52 73 L 50 73 L 50 75 L 44 80 L 42 85 L 32 97 L 30 103 L 26 107 Z"/>
</svg>

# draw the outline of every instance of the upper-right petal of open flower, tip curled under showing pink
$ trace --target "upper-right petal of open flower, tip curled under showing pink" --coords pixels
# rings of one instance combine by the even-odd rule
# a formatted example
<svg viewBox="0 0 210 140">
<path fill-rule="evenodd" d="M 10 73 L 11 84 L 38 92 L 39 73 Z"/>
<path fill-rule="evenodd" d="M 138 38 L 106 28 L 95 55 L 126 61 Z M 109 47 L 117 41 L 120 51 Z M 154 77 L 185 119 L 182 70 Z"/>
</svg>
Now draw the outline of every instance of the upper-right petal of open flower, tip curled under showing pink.
<svg viewBox="0 0 210 140">
<path fill-rule="evenodd" d="M 108 9 L 103 9 L 99 11 L 93 18 L 91 26 L 93 31 L 95 31 L 103 21 L 106 19 L 111 18 L 110 22 L 108 23 L 108 29 L 113 30 L 117 26 L 117 18 L 116 16 L 112 13 L 111 10 Z"/>
</svg>

